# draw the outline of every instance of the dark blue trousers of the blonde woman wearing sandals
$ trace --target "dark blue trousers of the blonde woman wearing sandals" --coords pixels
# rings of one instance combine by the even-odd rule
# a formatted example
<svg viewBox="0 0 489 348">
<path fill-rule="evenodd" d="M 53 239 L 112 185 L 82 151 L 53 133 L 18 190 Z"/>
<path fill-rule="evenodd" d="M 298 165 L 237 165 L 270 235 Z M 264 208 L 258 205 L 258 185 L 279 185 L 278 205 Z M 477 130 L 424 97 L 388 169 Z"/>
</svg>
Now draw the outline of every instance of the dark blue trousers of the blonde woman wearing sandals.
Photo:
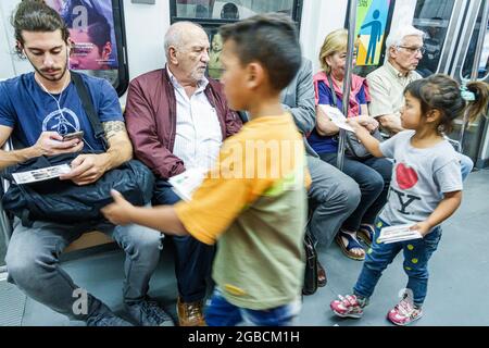
<svg viewBox="0 0 489 348">
<path fill-rule="evenodd" d="M 337 153 L 319 156 L 323 161 L 337 165 Z M 344 229 L 355 232 L 362 223 L 374 224 L 386 204 L 392 177 L 392 163 L 386 159 L 369 158 L 360 161 L 344 157 L 343 172 L 360 186 L 360 204 L 343 223 Z"/>
</svg>

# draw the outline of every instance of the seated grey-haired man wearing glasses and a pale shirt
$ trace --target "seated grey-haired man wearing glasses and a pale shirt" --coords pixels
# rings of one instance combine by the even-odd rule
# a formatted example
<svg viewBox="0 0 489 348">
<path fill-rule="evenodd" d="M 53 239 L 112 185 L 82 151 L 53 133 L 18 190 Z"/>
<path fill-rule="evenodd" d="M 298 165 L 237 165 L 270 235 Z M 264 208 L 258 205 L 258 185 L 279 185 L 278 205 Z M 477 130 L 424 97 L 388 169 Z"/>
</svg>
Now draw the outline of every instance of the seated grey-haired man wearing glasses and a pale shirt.
<svg viewBox="0 0 489 348">
<path fill-rule="evenodd" d="M 392 30 L 386 41 L 387 61 L 384 66 L 367 76 L 372 102 L 369 113 L 391 136 L 404 130 L 401 125 L 401 109 L 404 105 L 404 89 L 422 78 L 415 72 L 425 52 L 425 33 L 412 25 Z M 460 154 L 464 179 L 474 167 L 474 162 Z"/>
</svg>

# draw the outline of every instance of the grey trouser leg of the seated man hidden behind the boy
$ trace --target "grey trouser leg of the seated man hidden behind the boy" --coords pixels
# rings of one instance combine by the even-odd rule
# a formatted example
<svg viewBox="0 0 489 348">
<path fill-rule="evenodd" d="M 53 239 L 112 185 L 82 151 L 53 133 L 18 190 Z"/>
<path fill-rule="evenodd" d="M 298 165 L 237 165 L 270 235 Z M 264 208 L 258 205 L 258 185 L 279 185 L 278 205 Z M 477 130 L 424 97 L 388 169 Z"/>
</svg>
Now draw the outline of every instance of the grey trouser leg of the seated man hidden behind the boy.
<svg viewBox="0 0 489 348">
<path fill-rule="evenodd" d="M 308 169 L 312 178 L 309 190 L 312 214 L 308 228 L 316 244 L 329 247 L 359 206 L 360 188 L 350 176 L 319 158 L 308 156 Z"/>
</svg>

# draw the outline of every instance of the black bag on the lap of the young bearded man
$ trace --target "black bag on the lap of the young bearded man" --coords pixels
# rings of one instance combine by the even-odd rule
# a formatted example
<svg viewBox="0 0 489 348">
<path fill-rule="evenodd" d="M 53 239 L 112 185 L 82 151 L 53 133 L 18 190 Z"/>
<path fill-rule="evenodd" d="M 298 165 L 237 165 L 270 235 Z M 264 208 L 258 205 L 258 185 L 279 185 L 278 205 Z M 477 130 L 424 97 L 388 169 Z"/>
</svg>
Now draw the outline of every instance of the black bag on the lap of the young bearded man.
<svg viewBox="0 0 489 348">
<path fill-rule="evenodd" d="M 16 185 L 12 173 L 70 164 L 79 153 L 39 157 L 17 164 L 2 176 L 11 183 L 3 195 L 3 208 L 29 226 L 34 221 L 58 223 L 88 223 L 103 221 L 100 209 L 112 203 L 111 189 L 120 191 L 135 206 L 151 202 L 154 176 L 141 162 L 133 160 L 106 172 L 96 183 L 78 186 L 59 178 L 26 185 Z"/>
</svg>

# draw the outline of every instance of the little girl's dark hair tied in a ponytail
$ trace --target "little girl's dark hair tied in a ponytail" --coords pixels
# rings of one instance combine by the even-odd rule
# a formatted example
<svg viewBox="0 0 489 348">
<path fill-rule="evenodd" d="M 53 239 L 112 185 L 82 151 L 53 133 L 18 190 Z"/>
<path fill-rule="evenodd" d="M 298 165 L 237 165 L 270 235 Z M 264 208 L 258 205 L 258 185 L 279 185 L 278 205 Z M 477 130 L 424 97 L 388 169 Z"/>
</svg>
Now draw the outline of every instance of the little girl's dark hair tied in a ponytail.
<svg viewBox="0 0 489 348">
<path fill-rule="evenodd" d="M 488 85 L 473 82 L 467 84 L 467 89 L 476 97 L 476 100 L 468 105 L 462 98 L 459 83 L 448 75 L 437 74 L 411 83 L 405 88 L 405 92 L 410 92 L 421 101 L 423 115 L 434 109 L 440 111 L 440 126 L 443 127 L 443 132 L 451 132 L 453 120 L 462 116 L 467 108 L 471 121 L 486 112 L 489 101 Z"/>
</svg>

